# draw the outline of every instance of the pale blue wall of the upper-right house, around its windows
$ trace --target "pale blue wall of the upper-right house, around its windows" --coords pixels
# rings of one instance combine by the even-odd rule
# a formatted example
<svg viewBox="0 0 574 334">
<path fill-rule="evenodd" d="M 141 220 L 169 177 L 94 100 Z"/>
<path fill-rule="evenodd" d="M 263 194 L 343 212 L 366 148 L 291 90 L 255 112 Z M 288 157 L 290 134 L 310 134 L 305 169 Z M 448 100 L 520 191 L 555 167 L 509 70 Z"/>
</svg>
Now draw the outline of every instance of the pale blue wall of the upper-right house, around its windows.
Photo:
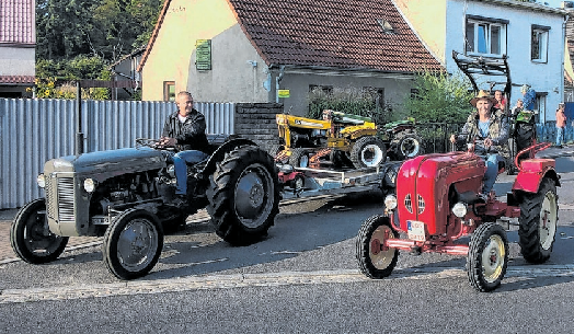
<svg viewBox="0 0 574 334">
<path fill-rule="evenodd" d="M 507 7 L 496 1 L 452 0 L 447 5 L 447 64 L 448 72 L 458 71 L 456 62 L 449 53 L 463 53 L 466 15 L 480 15 L 492 19 L 508 20 L 506 26 L 508 67 L 513 82 L 512 101 L 521 97 L 520 85 L 528 83 L 537 92 L 547 92 L 547 108 L 540 113 L 540 123 L 555 119 L 555 108 L 563 96 L 563 61 L 564 61 L 564 16 L 560 13 L 549 13 L 530 7 Z M 531 25 L 550 26 L 548 43 L 548 62 L 539 64 L 530 60 Z M 481 78 L 482 79 L 482 78 Z M 493 78 L 484 78 L 483 82 Z M 501 77 L 496 81 L 503 81 Z M 479 85 L 481 80 L 477 80 Z M 487 89 L 487 84 L 483 87 Z M 558 91 L 555 89 L 558 88 Z"/>
</svg>

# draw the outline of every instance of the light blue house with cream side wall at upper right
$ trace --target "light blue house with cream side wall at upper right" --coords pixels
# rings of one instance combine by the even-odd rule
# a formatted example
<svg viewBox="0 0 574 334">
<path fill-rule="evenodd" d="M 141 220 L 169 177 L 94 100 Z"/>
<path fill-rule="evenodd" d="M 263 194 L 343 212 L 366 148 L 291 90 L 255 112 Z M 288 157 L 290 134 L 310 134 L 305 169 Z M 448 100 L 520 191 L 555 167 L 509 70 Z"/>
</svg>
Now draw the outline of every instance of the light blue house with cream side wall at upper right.
<svg viewBox="0 0 574 334">
<path fill-rule="evenodd" d="M 564 92 L 567 12 L 515 0 L 394 0 L 397 7 L 449 73 L 458 72 L 452 50 L 464 55 L 508 57 L 510 105 L 520 87 L 537 92 L 539 122 L 554 120 Z M 479 78 L 481 88 L 501 78 Z"/>
</svg>

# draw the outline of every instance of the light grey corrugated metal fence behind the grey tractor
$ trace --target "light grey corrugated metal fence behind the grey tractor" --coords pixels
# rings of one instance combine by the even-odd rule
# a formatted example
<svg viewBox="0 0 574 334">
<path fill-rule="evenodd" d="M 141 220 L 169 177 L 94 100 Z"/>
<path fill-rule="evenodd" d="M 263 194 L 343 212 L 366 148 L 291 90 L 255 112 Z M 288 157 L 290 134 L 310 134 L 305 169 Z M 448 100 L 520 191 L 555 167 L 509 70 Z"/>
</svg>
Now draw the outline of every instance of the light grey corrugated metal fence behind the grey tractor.
<svg viewBox="0 0 574 334">
<path fill-rule="evenodd" d="M 234 133 L 236 105 L 196 103 L 207 133 Z M 82 101 L 84 152 L 134 147 L 136 138 L 159 138 L 172 102 Z M 36 175 L 49 159 L 74 153 L 74 100 L 0 99 L 0 209 L 43 196 Z"/>
</svg>

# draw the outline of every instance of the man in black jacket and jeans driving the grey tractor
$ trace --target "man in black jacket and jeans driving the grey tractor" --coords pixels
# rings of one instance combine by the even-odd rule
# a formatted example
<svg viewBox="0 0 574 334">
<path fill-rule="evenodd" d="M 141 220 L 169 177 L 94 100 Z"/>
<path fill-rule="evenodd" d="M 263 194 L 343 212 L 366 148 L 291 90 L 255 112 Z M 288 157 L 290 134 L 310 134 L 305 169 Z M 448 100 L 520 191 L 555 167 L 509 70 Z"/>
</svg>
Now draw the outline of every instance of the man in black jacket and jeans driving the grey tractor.
<svg viewBox="0 0 574 334">
<path fill-rule="evenodd" d="M 205 117 L 193 107 L 190 92 L 180 92 L 175 97 L 177 111 L 168 116 L 163 126 L 160 146 L 175 148 L 169 159 L 175 169 L 177 199 L 175 205 L 187 203 L 187 163 L 193 164 L 206 159 L 209 143 L 205 135 Z"/>
</svg>

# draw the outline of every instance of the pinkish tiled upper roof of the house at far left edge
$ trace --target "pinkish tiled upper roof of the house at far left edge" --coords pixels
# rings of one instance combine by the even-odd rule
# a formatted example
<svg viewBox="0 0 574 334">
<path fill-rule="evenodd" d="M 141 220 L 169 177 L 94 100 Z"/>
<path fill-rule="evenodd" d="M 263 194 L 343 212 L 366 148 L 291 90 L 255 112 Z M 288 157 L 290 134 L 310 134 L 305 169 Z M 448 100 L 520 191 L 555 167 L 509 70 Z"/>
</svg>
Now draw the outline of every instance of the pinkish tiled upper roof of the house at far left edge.
<svg viewBox="0 0 574 334">
<path fill-rule="evenodd" d="M 34 0 L 0 2 L 0 44 L 35 44 Z"/>
</svg>

